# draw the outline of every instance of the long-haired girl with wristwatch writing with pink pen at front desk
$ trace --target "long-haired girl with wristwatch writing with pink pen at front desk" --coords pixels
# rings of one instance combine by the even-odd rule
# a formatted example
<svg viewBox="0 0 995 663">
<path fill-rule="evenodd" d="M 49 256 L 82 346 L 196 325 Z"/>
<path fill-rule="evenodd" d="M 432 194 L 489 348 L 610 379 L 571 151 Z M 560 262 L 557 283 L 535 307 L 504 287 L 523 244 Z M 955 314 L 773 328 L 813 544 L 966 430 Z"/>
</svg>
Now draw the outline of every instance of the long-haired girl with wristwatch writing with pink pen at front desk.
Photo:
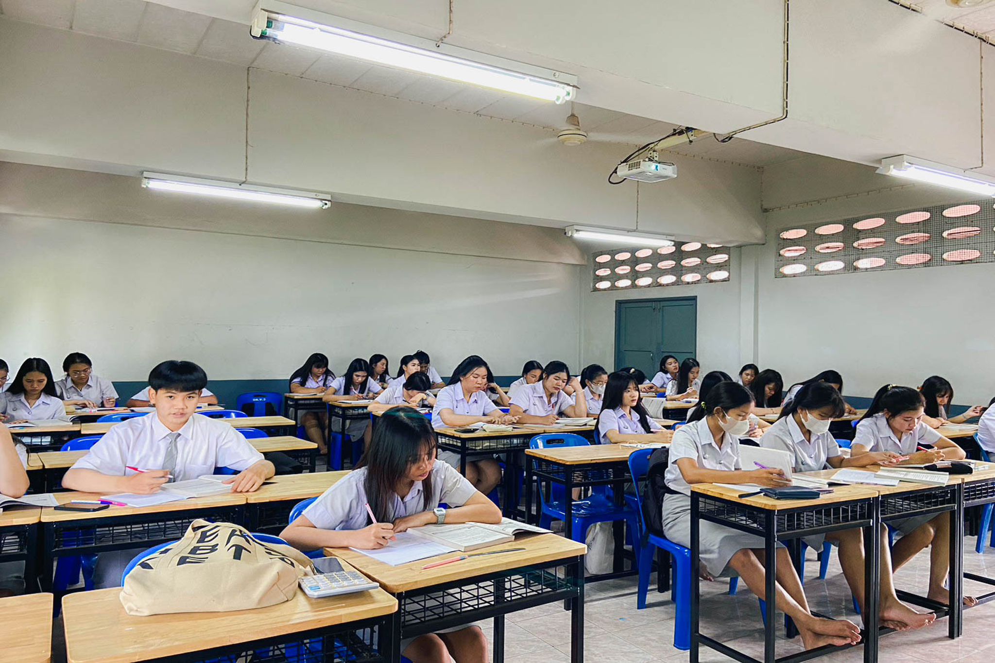
<svg viewBox="0 0 995 663">
<path fill-rule="evenodd" d="M 410 408 L 395 408 L 377 423 L 357 468 L 324 491 L 280 536 L 302 551 L 375 550 L 412 527 L 500 520 L 494 502 L 448 464 L 436 462 L 436 435 L 426 418 Z M 461 625 L 404 640 L 401 653 L 414 663 L 448 663 L 450 657 L 487 661 L 488 641 L 478 626 Z"/>
</svg>

